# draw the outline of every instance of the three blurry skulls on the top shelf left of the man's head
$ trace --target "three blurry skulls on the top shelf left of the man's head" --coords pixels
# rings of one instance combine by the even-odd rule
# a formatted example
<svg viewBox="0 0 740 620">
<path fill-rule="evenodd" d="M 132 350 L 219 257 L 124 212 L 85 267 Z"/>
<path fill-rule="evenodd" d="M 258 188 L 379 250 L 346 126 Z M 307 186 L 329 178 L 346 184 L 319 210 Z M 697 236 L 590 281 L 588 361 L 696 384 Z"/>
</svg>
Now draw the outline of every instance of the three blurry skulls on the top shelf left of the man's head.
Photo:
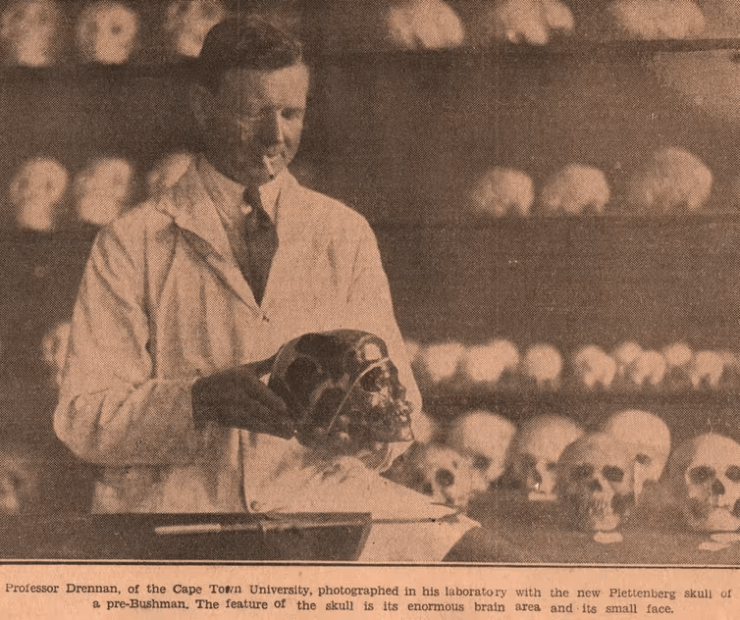
<svg viewBox="0 0 740 620">
<path fill-rule="evenodd" d="M 165 8 L 162 36 L 174 53 L 197 56 L 208 31 L 227 14 L 221 0 L 175 0 Z M 84 62 L 122 64 L 140 45 L 139 14 L 126 2 L 91 2 L 73 20 L 58 0 L 15 0 L 0 15 L 0 40 L 8 62 L 54 65 L 69 46 L 65 34 L 72 25 Z"/>
</svg>

